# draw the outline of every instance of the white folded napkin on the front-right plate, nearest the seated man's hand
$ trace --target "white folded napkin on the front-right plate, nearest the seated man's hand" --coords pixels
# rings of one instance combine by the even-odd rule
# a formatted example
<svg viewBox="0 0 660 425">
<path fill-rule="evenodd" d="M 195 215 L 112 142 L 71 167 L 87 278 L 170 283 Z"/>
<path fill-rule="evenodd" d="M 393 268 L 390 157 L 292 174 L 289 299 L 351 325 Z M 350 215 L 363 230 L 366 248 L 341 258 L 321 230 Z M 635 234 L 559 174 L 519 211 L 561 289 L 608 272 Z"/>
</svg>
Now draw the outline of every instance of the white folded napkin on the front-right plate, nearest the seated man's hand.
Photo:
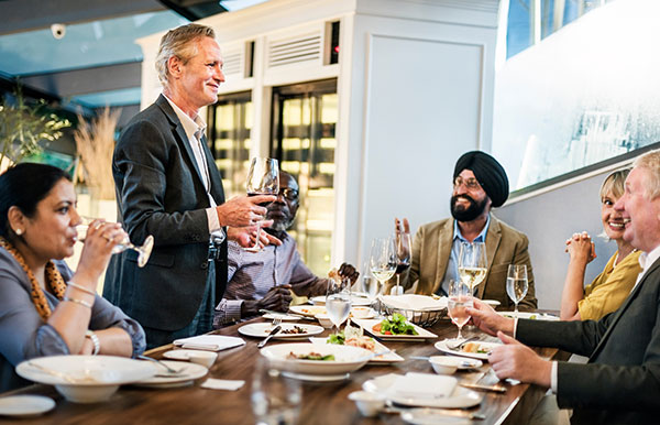
<svg viewBox="0 0 660 425">
<path fill-rule="evenodd" d="M 450 396 L 457 383 L 453 377 L 408 372 L 397 377 L 389 390 L 406 399 L 441 399 Z"/>
</svg>

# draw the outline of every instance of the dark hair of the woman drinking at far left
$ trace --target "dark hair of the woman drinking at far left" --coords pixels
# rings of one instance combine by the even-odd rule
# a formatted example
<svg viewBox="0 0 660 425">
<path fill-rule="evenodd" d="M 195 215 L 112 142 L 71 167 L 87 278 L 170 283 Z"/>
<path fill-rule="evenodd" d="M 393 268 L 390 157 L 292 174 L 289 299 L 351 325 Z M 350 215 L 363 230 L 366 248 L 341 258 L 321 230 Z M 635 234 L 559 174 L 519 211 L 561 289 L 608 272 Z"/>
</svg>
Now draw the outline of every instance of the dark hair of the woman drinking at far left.
<svg viewBox="0 0 660 425">
<path fill-rule="evenodd" d="M 63 178 L 70 182 L 64 170 L 36 163 L 21 163 L 0 174 L 0 236 L 7 238 L 13 232 L 9 228 L 7 214 L 16 206 L 25 216 L 33 217 L 36 205 Z"/>
</svg>

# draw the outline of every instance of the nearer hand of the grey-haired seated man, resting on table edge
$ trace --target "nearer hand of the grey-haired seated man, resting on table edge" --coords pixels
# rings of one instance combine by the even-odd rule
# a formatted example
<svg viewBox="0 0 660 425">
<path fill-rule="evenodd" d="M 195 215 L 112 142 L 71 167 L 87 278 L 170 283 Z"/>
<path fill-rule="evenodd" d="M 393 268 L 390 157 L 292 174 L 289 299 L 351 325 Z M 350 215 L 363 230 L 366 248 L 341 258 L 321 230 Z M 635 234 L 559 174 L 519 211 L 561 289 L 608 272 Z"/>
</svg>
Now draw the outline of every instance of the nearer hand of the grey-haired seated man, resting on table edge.
<svg viewBox="0 0 660 425">
<path fill-rule="evenodd" d="M 488 356 L 488 362 L 497 378 L 512 378 L 550 388 L 552 362 L 541 359 L 531 348 L 502 331 L 497 333 L 497 337 L 504 345 L 494 348 Z"/>
</svg>

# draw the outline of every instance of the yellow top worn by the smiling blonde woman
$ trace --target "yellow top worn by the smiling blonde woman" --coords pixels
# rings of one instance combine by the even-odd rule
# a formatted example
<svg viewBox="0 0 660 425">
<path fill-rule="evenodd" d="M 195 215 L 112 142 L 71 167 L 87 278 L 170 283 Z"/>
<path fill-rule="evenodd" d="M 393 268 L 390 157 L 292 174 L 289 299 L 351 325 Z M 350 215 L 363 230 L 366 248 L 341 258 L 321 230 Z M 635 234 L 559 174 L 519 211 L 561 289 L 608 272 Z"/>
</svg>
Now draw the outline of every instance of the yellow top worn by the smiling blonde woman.
<svg viewBox="0 0 660 425">
<path fill-rule="evenodd" d="M 614 261 L 617 254 L 618 251 L 612 255 L 603 272 L 584 287 L 584 298 L 578 303 L 582 320 L 598 320 L 616 310 L 635 286 L 637 275 L 641 272 L 639 265 L 641 251 L 629 253 L 615 268 Z"/>
</svg>

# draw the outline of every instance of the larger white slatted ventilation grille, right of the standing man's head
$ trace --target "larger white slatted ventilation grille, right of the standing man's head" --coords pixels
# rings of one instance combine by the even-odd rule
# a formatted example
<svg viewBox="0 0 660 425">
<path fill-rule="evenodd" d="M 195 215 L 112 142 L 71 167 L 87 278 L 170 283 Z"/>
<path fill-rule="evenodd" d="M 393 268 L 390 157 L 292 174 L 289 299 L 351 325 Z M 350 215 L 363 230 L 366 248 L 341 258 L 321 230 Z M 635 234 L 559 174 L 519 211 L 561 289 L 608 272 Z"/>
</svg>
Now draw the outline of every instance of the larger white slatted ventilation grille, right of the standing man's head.
<svg viewBox="0 0 660 425">
<path fill-rule="evenodd" d="M 321 34 L 319 32 L 295 37 L 274 40 L 268 43 L 268 67 L 319 61 L 321 57 Z"/>
</svg>

